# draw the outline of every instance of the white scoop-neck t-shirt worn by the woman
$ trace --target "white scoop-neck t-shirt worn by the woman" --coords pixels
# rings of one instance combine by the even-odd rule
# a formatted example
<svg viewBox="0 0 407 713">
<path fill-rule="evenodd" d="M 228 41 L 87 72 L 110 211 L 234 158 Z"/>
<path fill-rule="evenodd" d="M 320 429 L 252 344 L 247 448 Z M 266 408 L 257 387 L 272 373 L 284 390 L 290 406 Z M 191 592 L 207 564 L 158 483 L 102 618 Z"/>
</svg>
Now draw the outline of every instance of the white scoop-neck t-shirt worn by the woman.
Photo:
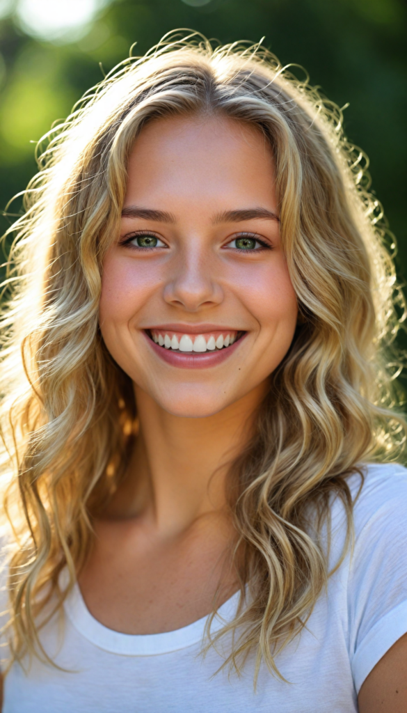
<svg viewBox="0 0 407 713">
<path fill-rule="evenodd" d="M 359 476 L 349 478 L 354 494 Z M 329 579 L 306 630 L 277 657 L 286 683 L 253 662 L 242 677 L 217 674 L 220 654 L 200 655 L 205 618 L 177 631 L 125 635 L 96 621 L 76 588 L 65 624 L 43 646 L 68 672 L 34 660 L 6 677 L 4 713 L 351 713 L 364 679 L 407 632 L 407 471 L 374 465 L 354 508 L 356 544 Z M 332 561 L 344 542 L 344 510 L 332 506 Z M 220 607 L 230 618 L 237 596 Z M 220 626 L 215 620 L 215 626 Z M 227 640 L 224 644 L 227 647 Z M 215 675 L 214 675 L 215 674 Z"/>
</svg>

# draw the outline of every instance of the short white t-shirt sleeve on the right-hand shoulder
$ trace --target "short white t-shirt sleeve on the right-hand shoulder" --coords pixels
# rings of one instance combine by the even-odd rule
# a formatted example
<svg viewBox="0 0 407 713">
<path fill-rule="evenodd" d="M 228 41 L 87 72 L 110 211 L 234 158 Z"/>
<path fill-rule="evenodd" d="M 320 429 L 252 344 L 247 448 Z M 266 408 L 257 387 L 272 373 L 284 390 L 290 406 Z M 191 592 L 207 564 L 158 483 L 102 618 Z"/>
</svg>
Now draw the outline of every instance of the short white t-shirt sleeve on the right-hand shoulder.
<svg viewBox="0 0 407 713">
<path fill-rule="evenodd" d="M 356 692 L 407 632 L 407 471 L 369 468 L 354 507 L 348 585 L 351 667 Z"/>
</svg>

